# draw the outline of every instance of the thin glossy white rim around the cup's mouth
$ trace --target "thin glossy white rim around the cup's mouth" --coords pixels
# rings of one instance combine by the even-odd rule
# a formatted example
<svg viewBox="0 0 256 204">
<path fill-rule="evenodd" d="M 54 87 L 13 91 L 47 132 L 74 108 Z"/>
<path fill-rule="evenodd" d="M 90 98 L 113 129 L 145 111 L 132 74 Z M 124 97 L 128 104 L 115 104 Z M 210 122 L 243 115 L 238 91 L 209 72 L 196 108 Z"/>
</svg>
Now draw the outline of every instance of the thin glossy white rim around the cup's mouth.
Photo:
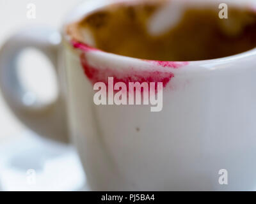
<svg viewBox="0 0 256 204">
<path fill-rule="evenodd" d="M 141 2 L 145 1 L 145 2 L 154 2 L 154 0 L 140 0 Z M 167 0 L 168 1 L 168 0 Z M 171 1 L 180 1 L 180 0 L 171 0 Z M 188 0 L 182 0 L 182 1 L 188 1 Z M 202 0 L 196 0 L 198 2 L 202 1 Z M 221 0 L 214 0 L 215 2 L 222 2 Z M 209 1 L 209 3 L 214 3 L 214 1 Z M 239 0 L 227 0 L 229 3 L 243 3 L 243 1 L 239 1 Z M 248 0 L 248 1 L 252 1 L 252 0 Z M 191 2 L 191 1 L 190 1 Z M 87 6 L 88 4 L 90 4 L 90 6 L 88 6 L 88 11 L 84 11 L 84 7 Z M 72 46 L 72 39 L 69 38 L 68 34 L 65 31 L 65 27 L 67 24 L 75 22 L 76 20 L 79 20 L 81 18 L 83 18 L 84 16 L 88 15 L 89 13 L 92 13 L 94 11 L 100 10 L 102 8 L 104 8 L 105 6 L 110 6 L 111 4 L 118 4 L 118 3 L 138 3 L 137 0 L 99 0 L 99 1 L 95 1 L 95 0 L 88 0 L 87 2 L 81 3 L 80 6 L 78 6 L 75 10 L 73 10 L 70 15 L 68 15 L 68 18 L 65 19 L 65 24 L 63 24 L 62 26 L 62 36 L 63 39 L 65 41 L 68 42 L 69 45 Z M 207 4 L 208 2 L 202 1 L 202 3 Z M 248 6 L 248 4 L 243 4 L 243 6 Z M 74 13 L 78 12 L 77 15 L 74 15 Z M 255 5 L 255 13 L 256 13 L 256 5 Z M 72 17 L 73 16 L 73 17 Z M 79 41 L 77 41 L 79 42 Z M 82 43 L 82 42 L 79 42 Z M 84 45 L 86 45 L 86 43 L 83 43 Z M 88 45 L 86 45 L 88 46 Z M 90 47 L 90 46 L 88 46 Z M 100 50 L 99 48 L 95 48 L 95 47 L 90 47 L 92 48 L 92 50 L 90 50 L 90 52 L 94 52 L 94 53 L 101 53 L 104 54 L 106 57 L 112 57 L 113 59 L 129 59 L 131 61 L 134 62 L 139 62 L 139 61 L 147 61 L 147 62 L 173 62 L 173 63 L 179 63 L 179 62 L 184 62 L 186 64 L 186 62 L 188 62 L 189 65 L 199 65 L 199 64 L 214 64 L 216 62 L 221 63 L 221 64 L 225 64 L 225 62 L 230 62 L 230 61 L 237 61 L 238 59 L 244 59 L 246 57 L 251 57 L 253 55 L 256 55 L 256 47 L 252 48 L 250 50 L 238 53 L 238 54 L 234 54 L 234 55 L 229 55 L 226 57 L 218 57 L 218 58 L 214 58 L 214 59 L 204 59 L 204 60 L 196 60 L 196 61 L 157 61 L 157 60 L 148 60 L 148 59 L 140 59 L 138 57 L 129 57 L 129 56 L 125 56 L 125 55 L 119 55 L 119 54 L 114 54 L 111 52 L 106 52 L 104 50 Z M 83 51 L 83 49 L 78 48 L 79 50 Z M 211 69 L 211 68 L 210 68 Z M 214 68 L 215 69 L 215 68 Z"/>
</svg>

